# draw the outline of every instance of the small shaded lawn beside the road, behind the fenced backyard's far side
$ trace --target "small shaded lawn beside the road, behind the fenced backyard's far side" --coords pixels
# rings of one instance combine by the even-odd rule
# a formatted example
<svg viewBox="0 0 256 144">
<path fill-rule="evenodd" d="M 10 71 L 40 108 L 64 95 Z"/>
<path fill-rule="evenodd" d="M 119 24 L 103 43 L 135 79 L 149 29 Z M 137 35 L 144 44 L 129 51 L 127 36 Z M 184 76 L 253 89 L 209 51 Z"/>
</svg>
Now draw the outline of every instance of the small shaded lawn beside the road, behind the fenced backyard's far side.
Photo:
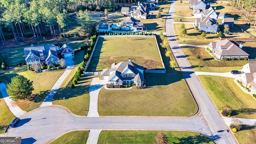
<svg viewBox="0 0 256 144">
<path fill-rule="evenodd" d="M 143 20 L 144 26 L 147 28 L 147 32 L 165 32 L 165 20 L 166 16 L 156 18 L 156 15 L 151 15 L 150 18 Z"/>
</svg>

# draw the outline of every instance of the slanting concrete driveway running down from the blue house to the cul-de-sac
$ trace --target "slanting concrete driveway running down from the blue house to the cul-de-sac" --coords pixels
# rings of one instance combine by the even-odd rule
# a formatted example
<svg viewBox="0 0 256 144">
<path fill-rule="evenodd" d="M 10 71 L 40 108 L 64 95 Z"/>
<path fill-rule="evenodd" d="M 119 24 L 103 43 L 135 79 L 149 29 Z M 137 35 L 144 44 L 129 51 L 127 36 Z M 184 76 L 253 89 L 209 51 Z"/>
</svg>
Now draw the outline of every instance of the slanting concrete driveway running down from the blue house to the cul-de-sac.
<svg viewBox="0 0 256 144">
<path fill-rule="evenodd" d="M 42 102 L 42 104 L 40 104 L 39 107 L 52 105 L 52 98 L 54 97 L 54 95 L 56 94 L 56 92 L 60 88 L 60 85 L 62 84 L 62 82 L 65 80 L 65 78 L 68 76 L 68 74 L 71 72 L 71 70 L 73 68 L 74 68 L 74 66 L 67 66 L 66 67 L 66 70 L 64 71 L 64 73 L 60 76 L 60 78 L 57 80 L 57 82 L 52 86 L 52 89 L 47 94 L 44 101 Z"/>
</svg>

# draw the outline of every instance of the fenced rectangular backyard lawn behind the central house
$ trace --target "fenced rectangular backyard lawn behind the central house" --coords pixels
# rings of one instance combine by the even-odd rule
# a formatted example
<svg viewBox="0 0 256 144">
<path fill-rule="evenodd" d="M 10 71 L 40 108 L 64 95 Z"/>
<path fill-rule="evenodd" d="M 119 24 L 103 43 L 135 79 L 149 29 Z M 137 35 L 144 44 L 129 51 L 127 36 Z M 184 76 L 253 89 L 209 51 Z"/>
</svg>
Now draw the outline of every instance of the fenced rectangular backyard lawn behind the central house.
<svg viewBox="0 0 256 144">
<path fill-rule="evenodd" d="M 154 38 L 100 38 L 87 71 L 101 71 L 128 58 L 147 69 L 163 68 Z"/>
</svg>

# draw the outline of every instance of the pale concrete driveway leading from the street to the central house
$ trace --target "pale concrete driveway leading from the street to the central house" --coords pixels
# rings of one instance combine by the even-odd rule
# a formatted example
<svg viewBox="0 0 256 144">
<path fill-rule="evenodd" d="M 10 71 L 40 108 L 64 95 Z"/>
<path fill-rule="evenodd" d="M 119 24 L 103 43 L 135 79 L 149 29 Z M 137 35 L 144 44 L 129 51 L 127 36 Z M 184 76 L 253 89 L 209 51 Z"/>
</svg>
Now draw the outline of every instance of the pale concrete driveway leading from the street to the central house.
<svg viewBox="0 0 256 144">
<path fill-rule="evenodd" d="M 91 85 L 89 87 L 89 94 L 90 94 L 90 104 L 89 104 L 89 111 L 87 117 L 98 117 L 98 95 L 100 89 L 103 88 L 107 80 L 100 80 L 97 78 L 92 78 Z"/>
</svg>

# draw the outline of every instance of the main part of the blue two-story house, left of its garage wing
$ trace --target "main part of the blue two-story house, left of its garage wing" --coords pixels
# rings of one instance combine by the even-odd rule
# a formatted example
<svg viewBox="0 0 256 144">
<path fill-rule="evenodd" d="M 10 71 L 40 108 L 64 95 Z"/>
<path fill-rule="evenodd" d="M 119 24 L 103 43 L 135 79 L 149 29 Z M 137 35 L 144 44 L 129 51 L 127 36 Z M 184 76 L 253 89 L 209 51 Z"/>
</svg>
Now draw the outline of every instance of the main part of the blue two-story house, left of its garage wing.
<svg viewBox="0 0 256 144">
<path fill-rule="evenodd" d="M 54 44 L 24 48 L 26 63 L 30 66 L 34 63 L 39 63 L 40 66 L 44 64 L 47 66 L 58 64 L 59 56 L 57 49 L 60 50 Z"/>
</svg>

